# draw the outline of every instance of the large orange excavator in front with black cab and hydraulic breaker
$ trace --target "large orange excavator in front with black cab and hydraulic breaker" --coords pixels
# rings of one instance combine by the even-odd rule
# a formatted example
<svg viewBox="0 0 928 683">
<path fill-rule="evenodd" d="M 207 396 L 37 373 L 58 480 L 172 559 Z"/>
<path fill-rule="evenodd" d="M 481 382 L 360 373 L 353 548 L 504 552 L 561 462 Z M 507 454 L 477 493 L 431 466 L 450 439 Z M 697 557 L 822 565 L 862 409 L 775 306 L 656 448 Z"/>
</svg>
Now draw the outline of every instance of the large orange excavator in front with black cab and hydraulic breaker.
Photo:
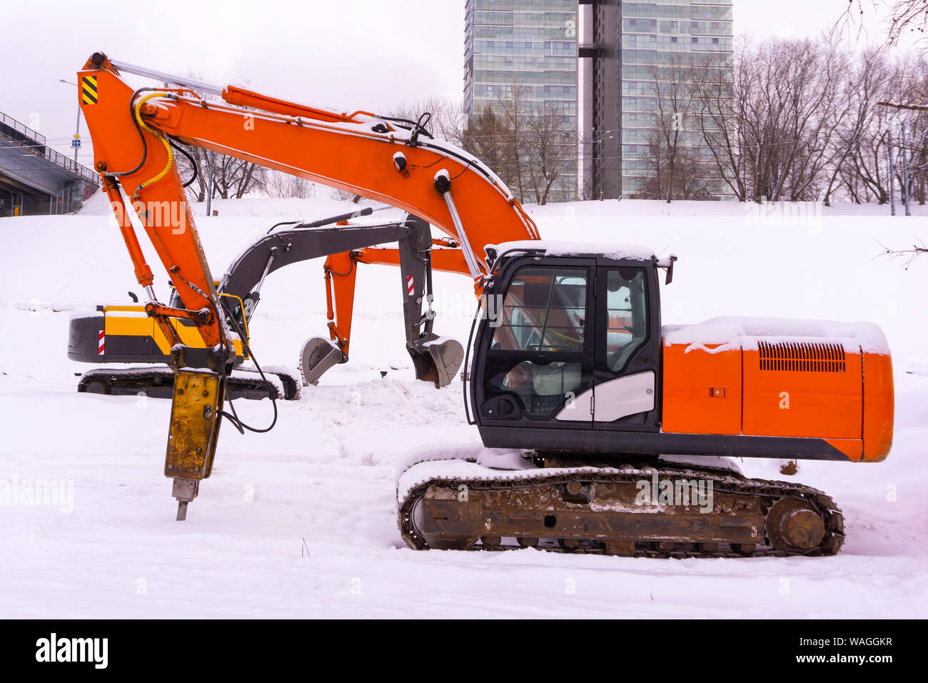
<svg viewBox="0 0 928 683">
<path fill-rule="evenodd" d="M 133 89 L 122 73 L 177 87 Z M 412 276 L 407 348 L 421 359 L 417 376 L 447 384 L 460 361 L 424 325 L 427 279 L 432 268 L 473 278 L 480 303 L 462 374 L 467 418 L 484 446 L 506 451 L 423 453 L 406 468 L 398 525 L 410 547 L 643 557 L 838 552 L 844 521 L 828 495 L 745 478 L 727 458 L 883 460 L 892 443 L 892 363 L 874 325 L 728 318 L 662 326 L 660 279 L 671 282 L 676 257 L 540 240 L 499 178 L 431 138 L 424 119 L 216 88 L 102 53 L 78 79 L 97 171 L 148 296 L 144 310 L 169 341 L 164 474 L 178 519 L 210 476 L 222 419 L 244 427 L 225 410 L 227 382 L 236 344 L 250 353 L 217 292 L 174 164 L 175 145 L 196 145 L 409 213 L 415 225 L 391 238 L 397 248 L 330 253 L 331 338 L 316 363 L 347 354 L 355 266 L 393 264 L 404 280 Z M 135 217 L 174 284 L 173 306 L 155 296 Z M 421 221 L 449 241 L 434 244 Z M 416 259 L 427 267 L 409 266 Z M 186 343 L 178 321 L 201 342 Z"/>
</svg>

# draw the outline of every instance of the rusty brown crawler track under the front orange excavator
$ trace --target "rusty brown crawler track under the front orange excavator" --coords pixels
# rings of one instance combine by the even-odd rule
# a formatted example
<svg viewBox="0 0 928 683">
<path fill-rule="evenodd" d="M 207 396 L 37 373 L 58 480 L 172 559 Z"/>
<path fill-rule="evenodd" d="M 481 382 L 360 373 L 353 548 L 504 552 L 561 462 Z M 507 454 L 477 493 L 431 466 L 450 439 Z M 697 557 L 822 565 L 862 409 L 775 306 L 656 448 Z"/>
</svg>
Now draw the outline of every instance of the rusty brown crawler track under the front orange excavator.
<svg viewBox="0 0 928 683">
<path fill-rule="evenodd" d="M 433 471 L 435 464 L 428 465 Z M 406 474 L 414 475 L 413 469 Z M 841 511 L 828 495 L 802 484 L 689 466 L 484 471 L 476 477 L 431 476 L 413 485 L 399 510 L 406 544 L 418 550 L 538 547 L 643 558 L 742 558 L 830 556 L 844 543 Z M 703 493 L 711 482 L 711 504 L 703 498 L 702 506 L 641 505 L 639 493 L 645 487 L 656 491 L 655 480 L 658 487 L 669 481 L 675 490 L 677 483 L 682 490 L 685 482 L 695 482 Z"/>
</svg>

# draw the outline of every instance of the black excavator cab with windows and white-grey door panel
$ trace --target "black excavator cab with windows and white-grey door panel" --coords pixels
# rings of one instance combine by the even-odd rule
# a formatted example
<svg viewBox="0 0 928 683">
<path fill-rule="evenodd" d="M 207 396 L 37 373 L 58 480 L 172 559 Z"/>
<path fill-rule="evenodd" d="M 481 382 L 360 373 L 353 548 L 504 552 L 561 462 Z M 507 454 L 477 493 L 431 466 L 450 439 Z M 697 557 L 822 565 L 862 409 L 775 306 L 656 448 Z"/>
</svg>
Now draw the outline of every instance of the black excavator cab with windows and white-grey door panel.
<svg viewBox="0 0 928 683">
<path fill-rule="evenodd" d="M 577 453 L 577 430 L 660 429 L 658 268 L 638 248 L 496 259 L 470 375 L 486 445 Z"/>
</svg>

